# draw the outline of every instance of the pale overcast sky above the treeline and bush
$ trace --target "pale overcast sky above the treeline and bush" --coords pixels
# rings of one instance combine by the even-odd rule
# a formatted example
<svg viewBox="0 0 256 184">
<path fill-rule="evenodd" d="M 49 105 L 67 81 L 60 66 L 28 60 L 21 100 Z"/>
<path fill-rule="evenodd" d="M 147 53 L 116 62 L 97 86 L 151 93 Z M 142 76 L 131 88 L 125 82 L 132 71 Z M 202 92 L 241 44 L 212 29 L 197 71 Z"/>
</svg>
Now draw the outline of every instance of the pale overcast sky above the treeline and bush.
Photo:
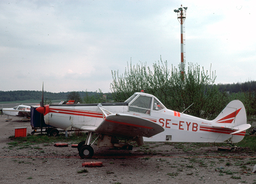
<svg viewBox="0 0 256 184">
<path fill-rule="evenodd" d="M 256 80 L 255 0 L 0 0 L 0 90 L 111 92 L 111 70 L 180 58 L 216 83 Z"/>
</svg>

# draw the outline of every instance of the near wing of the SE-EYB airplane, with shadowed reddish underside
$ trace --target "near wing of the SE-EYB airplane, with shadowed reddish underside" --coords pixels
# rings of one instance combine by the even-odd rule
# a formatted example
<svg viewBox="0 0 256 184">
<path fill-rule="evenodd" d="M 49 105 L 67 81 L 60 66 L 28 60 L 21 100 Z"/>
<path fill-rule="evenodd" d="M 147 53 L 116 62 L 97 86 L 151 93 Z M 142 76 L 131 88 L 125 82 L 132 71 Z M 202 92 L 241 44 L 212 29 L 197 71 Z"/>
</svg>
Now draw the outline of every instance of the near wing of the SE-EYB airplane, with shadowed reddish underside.
<svg viewBox="0 0 256 184">
<path fill-rule="evenodd" d="M 128 114 L 109 114 L 95 132 L 133 139 L 136 136 L 152 137 L 164 131 L 164 128 L 153 121 Z"/>
</svg>

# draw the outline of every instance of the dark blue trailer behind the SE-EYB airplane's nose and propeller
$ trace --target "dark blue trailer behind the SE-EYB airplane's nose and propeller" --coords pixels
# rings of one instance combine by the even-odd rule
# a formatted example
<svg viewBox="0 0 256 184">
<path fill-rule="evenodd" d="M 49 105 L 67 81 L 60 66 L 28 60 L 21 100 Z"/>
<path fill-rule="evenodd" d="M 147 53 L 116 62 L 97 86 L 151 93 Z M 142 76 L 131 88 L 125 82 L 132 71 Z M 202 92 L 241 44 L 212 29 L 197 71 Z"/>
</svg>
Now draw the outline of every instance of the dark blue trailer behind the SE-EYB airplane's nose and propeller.
<svg viewBox="0 0 256 184">
<path fill-rule="evenodd" d="M 31 134 L 34 133 L 47 133 L 50 136 L 58 136 L 60 132 L 65 132 L 64 130 L 59 130 L 56 127 L 45 124 L 44 116 L 37 112 L 36 108 L 39 106 L 31 106 L 30 109 L 30 125 L 33 129 Z"/>
</svg>

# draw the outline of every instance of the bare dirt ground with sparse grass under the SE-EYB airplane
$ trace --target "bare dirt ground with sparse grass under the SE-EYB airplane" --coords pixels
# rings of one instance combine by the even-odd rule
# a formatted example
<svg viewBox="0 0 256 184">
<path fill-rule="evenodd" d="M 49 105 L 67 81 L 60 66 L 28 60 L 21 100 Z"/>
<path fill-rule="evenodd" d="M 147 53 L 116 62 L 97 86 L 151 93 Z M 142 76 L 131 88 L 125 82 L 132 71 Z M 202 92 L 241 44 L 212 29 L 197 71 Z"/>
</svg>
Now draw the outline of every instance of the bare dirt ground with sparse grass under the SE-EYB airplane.
<svg viewBox="0 0 256 184">
<path fill-rule="evenodd" d="M 76 148 L 34 145 L 20 149 L 12 142 L 16 127 L 30 122 L 4 121 L 0 117 L 1 184 L 256 184 L 255 152 L 239 148 L 220 152 L 217 146 L 196 144 L 146 143 L 132 151 L 94 147 L 92 159 L 81 159 Z M 82 167 L 84 162 L 100 161 L 102 167 Z M 85 171 L 85 172 L 82 172 Z M 81 173 L 79 173 L 81 172 Z"/>
</svg>

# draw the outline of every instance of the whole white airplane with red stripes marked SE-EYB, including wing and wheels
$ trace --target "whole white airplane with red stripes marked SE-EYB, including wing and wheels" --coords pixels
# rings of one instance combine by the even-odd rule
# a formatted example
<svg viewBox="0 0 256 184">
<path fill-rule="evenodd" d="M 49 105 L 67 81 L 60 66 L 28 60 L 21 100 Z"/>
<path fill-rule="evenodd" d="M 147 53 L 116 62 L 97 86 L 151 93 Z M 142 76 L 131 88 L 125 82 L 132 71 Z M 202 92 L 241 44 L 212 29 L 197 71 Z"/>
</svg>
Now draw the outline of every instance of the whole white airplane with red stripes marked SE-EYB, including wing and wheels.
<svg viewBox="0 0 256 184">
<path fill-rule="evenodd" d="M 154 96 L 135 93 L 125 102 L 71 105 L 43 105 L 36 109 L 44 114 L 46 124 L 63 130 L 77 128 L 88 131 L 88 138 L 78 144 L 82 159 L 91 158 L 97 146 L 132 146 L 121 140 L 136 140 L 138 146 L 145 141 L 161 142 L 226 142 L 243 140 L 246 121 L 243 103 L 235 100 L 209 121 L 169 110 Z"/>
</svg>

